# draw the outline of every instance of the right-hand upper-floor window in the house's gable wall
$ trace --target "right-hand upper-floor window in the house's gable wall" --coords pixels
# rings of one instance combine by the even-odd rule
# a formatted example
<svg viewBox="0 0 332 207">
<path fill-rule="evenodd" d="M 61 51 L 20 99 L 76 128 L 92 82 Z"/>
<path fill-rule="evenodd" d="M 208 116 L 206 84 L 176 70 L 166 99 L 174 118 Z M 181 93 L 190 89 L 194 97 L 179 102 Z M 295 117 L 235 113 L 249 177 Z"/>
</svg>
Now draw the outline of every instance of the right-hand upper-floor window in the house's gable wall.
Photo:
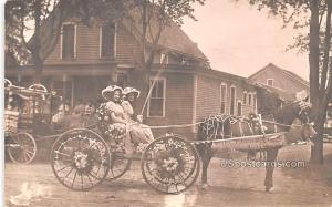
<svg viewBox="0 0 332 207">
<path fill-rule="evenodd" d="M 115 46 L 115 24 L 101 27 L 100 30 L 100 55 L 101 58 L 113 58 Z"/>
</svg>

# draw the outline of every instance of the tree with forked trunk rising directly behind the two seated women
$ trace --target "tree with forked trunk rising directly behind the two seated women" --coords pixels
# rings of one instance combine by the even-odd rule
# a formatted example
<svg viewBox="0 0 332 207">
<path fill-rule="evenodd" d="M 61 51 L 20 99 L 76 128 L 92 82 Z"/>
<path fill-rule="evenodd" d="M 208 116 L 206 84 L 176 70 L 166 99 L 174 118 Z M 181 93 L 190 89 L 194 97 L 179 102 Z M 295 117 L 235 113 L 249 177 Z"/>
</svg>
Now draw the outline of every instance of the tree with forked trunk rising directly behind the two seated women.
<svg viewBox="0 0 332 207">
<path fill-rule="evenodd" d="M 133 10 L 138 13 L 141 34 L 139 68 L 144 72 L 144 91 L 149 91 L 149 77 L 154 56 L 158 50 L 158 42 L 166 27 L 184 23 L 184 18 L 194 17 L 195 3 L 204 4 L 205 0 L 136 0 Z M 165 51 L 167 53 L 167 51 Z M 147 99 L 146 99 L 147 100 Z M 146 103 L 145 103 L 146 104 Z M 145 106 L 144 104 L 144 106 Z M 144 111 L 144 106 L 142 113 Z"/>
</svg>

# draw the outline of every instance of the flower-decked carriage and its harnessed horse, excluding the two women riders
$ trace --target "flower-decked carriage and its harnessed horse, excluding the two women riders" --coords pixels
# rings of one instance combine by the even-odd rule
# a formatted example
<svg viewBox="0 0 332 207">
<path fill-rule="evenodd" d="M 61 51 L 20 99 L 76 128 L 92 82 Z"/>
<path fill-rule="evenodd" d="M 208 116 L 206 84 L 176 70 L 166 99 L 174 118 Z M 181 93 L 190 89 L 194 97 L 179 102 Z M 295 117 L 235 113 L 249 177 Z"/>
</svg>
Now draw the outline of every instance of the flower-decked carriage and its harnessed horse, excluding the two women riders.
<svg viewBox="0 0 332 207">
<path fill-rule="evenodd" d="M 120 178 L 129 169 L 133 159 L 139 159 L 143 178 L 149 186 L 158 192 L 177 194 L 196 182 L 200 161 L 203 183 L 207 182 L 207 167 L 216 147 L 218 151 L 237 149 L 249 153 L 266 151 L 267 159 L 276 161 L 278 149 L 286 144 L 284 133 L 293 120 L 295 117 L 303 122 L 305 120 L 305 126 L 309 126 L 308 115 L 302 117 L 308 108 L 308 105 L 301 106 L 300 102 L 297 102 L 283 111 L 283 115 L 286 114 L 288 118 L 270 122 L 222 114 L 212 115 L 200 123 L 195 123 L 199 125 L 197 141 L 188 142 L 179 135 L 166 134 L 148 145 L 136 146 L 136 153 L 129 157 L 125 155 L 123 148 L 124 136 L 129 136 L 129 130 L 125 132 L 116 127 L 105 130 L 103 126 L 106 118 L 100 112 L 95 126 L 70 130 L 55 141 L 51 152 L 51 165 L 62 185 L 74 190 L 89 190 L 103 180 Z M 290 114 L 286 113 L 287 110 Z M 153 127 L 188 126 L 193 125 Z M 232 131 L 232 126 L 238 130 Z M 267 168 L 267 189 L 272 186 L 272 173 L 273 169 Z"/>
</svg>

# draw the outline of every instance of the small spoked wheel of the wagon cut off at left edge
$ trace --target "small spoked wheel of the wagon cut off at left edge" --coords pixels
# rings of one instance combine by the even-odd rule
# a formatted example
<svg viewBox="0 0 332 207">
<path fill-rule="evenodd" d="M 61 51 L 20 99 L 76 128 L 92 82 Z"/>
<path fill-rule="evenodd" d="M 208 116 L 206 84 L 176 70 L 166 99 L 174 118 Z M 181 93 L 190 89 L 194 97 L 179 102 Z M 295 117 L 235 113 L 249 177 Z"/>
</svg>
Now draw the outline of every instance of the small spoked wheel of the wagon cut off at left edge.
<svg viewBox="0 0 332 207">
<path fill-rule="evenodd" d="M 33 136 L 27 132 L 19 132 L 10 136 L 8 155 L 13 163 L 29 164 L 37 153 L 37 144 Z"/>
</svg>

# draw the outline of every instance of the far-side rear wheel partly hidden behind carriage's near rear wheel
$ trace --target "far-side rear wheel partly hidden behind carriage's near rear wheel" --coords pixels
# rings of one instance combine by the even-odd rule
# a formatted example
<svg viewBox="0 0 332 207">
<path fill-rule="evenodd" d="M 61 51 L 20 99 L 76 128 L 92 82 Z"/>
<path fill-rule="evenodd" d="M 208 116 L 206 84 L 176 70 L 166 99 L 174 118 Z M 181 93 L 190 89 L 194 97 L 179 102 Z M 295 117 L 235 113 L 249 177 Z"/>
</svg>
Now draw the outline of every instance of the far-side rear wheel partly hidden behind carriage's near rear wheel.
<svg viewBox="0 0 332 207">
<path fill-rule="evenodd" d="M 106 180 L 114 180 L 123 176 L 131 167 L 132 159 L 126 158 L 123 154 L 111 153 L 111 165 Z"/>
</svg>

